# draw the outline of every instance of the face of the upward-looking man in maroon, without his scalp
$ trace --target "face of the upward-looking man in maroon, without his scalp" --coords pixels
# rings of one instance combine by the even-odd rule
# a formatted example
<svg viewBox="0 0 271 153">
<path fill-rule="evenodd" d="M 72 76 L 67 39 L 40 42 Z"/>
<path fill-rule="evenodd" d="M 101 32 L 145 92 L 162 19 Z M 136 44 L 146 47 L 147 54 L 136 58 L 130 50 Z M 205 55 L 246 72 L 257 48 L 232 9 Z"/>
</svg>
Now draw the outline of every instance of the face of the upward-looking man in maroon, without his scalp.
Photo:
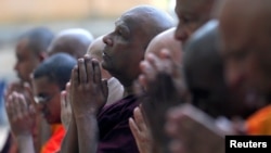
<svg viewBox="0 0 271 153">
<path fill-rule="evenodd" d="M 144 17 L 144 16 L 141 16 Z M 115 23 L 115 30 L 104 36 L 102 66 L 113 76 L 134 79 L 140 73 L 139 63 L 144 56 L 145 34 L 134 12 L 128 12 Z"/>
</svg>

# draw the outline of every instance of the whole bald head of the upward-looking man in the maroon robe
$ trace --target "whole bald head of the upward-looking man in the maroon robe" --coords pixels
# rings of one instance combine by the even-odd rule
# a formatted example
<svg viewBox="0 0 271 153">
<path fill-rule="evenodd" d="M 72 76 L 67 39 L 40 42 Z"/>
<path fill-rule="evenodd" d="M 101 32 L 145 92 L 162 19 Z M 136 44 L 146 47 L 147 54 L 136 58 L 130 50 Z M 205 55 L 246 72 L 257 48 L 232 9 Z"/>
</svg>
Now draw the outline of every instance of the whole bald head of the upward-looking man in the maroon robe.
<svg viewBox="0 0 271 153">
<path fill-rule="evenodd" d="M 124 86 L 131 86 L 140 74 L 150 41 L 159 33 L 173 27 L 172 17 L 151 5 L 139 5 L 125 12 L 115 23 L 115 30 L 103 38 L 102 65 Z"/>
</svg>

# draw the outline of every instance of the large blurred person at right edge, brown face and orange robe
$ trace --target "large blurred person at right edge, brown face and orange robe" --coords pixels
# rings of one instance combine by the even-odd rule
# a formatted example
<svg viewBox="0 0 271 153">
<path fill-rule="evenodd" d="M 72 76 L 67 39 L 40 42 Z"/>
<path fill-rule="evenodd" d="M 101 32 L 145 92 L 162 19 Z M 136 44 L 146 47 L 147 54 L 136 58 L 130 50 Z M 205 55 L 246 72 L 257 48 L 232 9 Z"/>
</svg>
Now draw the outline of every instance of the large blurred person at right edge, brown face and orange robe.
<svg viewBox="0 0 271 153">
<path fill-rule="evenodd" d="M 228 84 L 257 101 L 258 111 L 246 123 L 248 135 L 271 135 L 270 11 L 268 0 L 227 0 L 219 15 Z"/>
</svg>

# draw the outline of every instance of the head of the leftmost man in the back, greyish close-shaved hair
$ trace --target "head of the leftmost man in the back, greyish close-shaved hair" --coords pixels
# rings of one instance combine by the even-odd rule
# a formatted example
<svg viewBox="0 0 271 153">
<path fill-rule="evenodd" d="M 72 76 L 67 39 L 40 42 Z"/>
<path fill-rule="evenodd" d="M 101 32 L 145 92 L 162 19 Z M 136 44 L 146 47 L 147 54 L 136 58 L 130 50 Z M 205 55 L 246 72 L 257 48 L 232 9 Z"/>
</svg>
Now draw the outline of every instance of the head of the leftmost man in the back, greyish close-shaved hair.
<svg viewBox="0 0 271 153">
<path fill-rule="evenodd" d="M 20 36 L 14 69 L 21 81 L 30 82 L 30 73 L 46 59 L 53 37 L 54 34 L 46 27 L 33 28 Z"/>
</svg>

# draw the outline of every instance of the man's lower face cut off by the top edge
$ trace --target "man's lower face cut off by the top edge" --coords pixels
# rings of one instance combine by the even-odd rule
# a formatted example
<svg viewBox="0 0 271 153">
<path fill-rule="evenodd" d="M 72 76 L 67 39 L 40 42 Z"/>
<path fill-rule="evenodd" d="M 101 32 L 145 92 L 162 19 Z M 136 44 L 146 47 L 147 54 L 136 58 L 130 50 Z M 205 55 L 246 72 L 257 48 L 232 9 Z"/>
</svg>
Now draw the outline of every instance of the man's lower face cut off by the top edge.
<svg viewBox="0 0 271 153">
<path fill-rule="evenodd" d="M 210 18 L 212 0 L 176 0 L 176 14 L 179 24 L 176 38 L 183 43 Z"/>
</svg>

